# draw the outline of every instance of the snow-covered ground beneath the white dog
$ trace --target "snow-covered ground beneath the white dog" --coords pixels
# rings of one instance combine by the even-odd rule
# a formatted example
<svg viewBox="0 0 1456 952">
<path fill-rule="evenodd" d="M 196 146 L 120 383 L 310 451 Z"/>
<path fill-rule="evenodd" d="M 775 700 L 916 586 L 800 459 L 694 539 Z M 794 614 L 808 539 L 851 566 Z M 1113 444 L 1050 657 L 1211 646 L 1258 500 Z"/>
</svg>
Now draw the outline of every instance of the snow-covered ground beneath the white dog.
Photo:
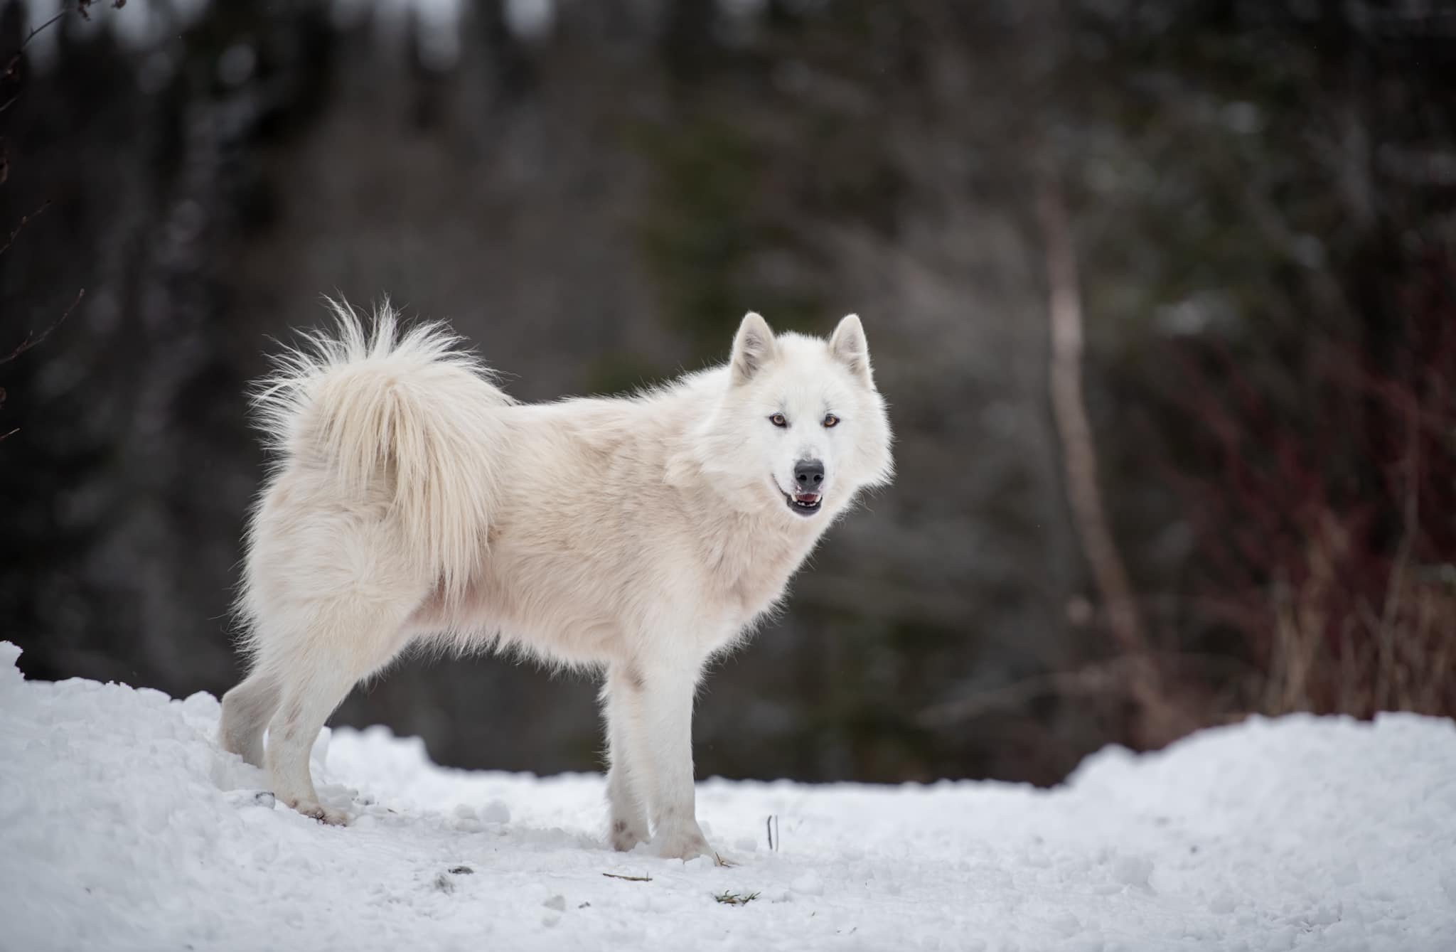
<svg viewBox="0 0 1456 952">
<path fill-rule="evenodd" d="M 17 655 L 6 951 L 1456 949 L 1444 721 L 1255 719 L 1051 792 L 708 780 L 716 868 L 606 849 L 600 776 L 446 770 L 379 728 L 320 739 L 358 817 L 325 827 L 218 751 L 211 696 L 23 681 Z"/>
</svg>

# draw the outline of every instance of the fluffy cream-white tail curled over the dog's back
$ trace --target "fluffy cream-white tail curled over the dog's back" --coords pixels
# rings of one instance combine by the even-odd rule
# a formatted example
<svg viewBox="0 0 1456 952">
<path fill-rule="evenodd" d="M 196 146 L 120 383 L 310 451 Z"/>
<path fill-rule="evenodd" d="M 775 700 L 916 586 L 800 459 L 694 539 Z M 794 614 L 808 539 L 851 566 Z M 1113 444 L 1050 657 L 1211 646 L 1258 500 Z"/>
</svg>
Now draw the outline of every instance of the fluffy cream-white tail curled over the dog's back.
<svg viewBox="0 0 1456 952">
<path fill-rule="evenodd" d="M 329 300 L 332 332 L 304 335 L 253 392 L 281 466 L 323 469 L 342 498 L 383 492 L 411 555 L 457 594 L 483 555 L 501 422 L 511 403 L 440 323 L 403 329 L 386 301 L 365 328 Z"/>
</svg>

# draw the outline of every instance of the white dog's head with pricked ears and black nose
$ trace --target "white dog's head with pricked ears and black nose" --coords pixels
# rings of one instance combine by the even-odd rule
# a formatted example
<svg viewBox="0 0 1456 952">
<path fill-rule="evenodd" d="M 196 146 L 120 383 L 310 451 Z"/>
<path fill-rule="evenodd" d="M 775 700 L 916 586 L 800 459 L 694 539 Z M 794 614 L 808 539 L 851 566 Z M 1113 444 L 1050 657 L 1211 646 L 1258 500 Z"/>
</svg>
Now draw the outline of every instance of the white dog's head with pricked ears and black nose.
<svg viewBox="0 0 1456 952">
<path fill-rule="evenodd" d="M 713 428 L 716 450 L 731 456 L 715 469 L 731 469 L 788 518 L 833 514 L 893 472 L 885 402 L 855 314 L 828 341 L 775 336 L 759 314 L 744 317 Z"/>
</svg>

